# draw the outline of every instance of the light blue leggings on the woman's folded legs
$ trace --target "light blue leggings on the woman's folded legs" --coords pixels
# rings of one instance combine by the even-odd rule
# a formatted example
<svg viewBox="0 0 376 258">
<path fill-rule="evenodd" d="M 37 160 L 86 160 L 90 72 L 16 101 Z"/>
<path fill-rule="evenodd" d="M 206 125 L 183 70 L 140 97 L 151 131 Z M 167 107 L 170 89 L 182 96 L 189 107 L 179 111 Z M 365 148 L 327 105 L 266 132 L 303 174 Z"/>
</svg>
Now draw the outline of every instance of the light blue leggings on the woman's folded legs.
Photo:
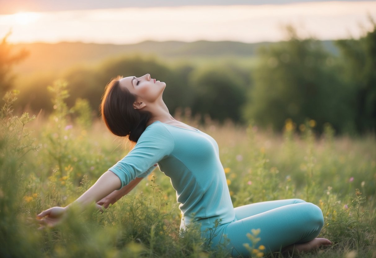
<svg viewBox="0 0 376 258">
<path fill-rule="evenodd" d="M 226 235 L 227 249 L 233 257 L 250 255 L 244 243 L 251 241 L 247 233 L 260 229 L 261 240 L 255 248 L 264 245 L 264 254 L 280 251 L 294 243 L 304 243 L 316 238 L 324 225 L 323 213 L 318 206 L 301 199 L 273 200 L 240 206 L 235 210 L 235 220 L 220 225 L 212 244 L 223 243 Z"/>
</svg>

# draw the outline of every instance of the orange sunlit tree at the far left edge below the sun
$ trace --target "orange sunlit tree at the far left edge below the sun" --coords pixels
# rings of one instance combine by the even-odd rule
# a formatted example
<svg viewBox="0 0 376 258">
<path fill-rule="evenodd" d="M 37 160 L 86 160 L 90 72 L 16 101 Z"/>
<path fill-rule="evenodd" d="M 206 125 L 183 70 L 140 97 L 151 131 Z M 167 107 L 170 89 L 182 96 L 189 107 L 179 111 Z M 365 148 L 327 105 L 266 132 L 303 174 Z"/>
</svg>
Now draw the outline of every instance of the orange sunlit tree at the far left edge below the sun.
<svg viewBox="0 0 376 258">
<path fill-rule="evenodd" d="M 11 32 L 5 35 L 0 44 L 0 94 L 12 88 L 12 80 L 15 77 L 14 74 L 12 74 L 12 66 L 22 61 L 29 54 L 29 52 L 24 49 L 13 54 L 13 46 L 7 42 L 9 35 L 11 35 Z"/>
</svg>

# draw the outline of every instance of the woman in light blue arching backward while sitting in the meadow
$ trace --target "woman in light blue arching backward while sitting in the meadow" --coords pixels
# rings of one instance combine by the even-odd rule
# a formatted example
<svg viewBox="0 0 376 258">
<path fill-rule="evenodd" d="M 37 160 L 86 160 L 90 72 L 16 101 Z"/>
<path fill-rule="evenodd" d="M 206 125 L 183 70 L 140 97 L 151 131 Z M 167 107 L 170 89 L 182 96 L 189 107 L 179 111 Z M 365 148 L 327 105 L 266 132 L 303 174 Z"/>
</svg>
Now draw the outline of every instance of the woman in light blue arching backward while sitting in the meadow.
<svg viewBox="0 0 376 258">
<path fill-rule="evenodd" d="M 171 178 L 180 203 L 180 228 L 200 223 L 202 235 L 211 243 L 229 240 L 233 256 L 249 255 L 243 246 L 246 234 L 261 229 L 258 246 L 266 252 L 309 251 L 331 244 L 315 238 L 323 226 L 321 209 L 300 199 L 273 200 L 233 208 L 218 145 L 209 135 L 175 120 L 162 100 L 166 87 L 145 74 L 117 77 L 107 86 L 102 99 L 102 118 L 109 130 L 127 136 L 135 147 L 76 201 L 38 214 L 40 223 L 53 226 L 71 205 L 92 202 L 108 207 L 128 193 L 158 163 Z M 219 225 L 214 228 L 215 222 Z M 215 230 L 215 234 L 213 231 Z"/>
</svg>

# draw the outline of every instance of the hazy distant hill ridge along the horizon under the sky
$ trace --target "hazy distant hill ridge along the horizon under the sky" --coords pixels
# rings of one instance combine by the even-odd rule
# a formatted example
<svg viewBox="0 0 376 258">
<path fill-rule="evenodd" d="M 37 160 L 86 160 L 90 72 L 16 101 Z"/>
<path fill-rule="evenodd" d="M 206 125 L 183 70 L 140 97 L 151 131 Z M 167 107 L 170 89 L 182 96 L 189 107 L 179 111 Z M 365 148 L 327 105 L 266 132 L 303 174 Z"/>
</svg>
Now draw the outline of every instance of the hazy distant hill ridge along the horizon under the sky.
<svg viewBox="0 0 376 258">
<path fill-rule="evenodd" d="M 16 73 L 36 71 L 60 72 L 76 64 L 93 64 L 106 58 L 122 55 L 143 54 L 161 58 L 215 58 L 232 56 L 251 58 L 260 46 L 271 42 L 241 43 L 233 41 L 144 41 L 138 44 L 86 44 L 81 42 L 60 42 L 57 44 L 16 44 L 15 51 L 29 50 L 30 55 L 15 67 Z M 332 41 L 323 41 L 323 46 L 332 53 L 337 49 Z"/>
</svg>

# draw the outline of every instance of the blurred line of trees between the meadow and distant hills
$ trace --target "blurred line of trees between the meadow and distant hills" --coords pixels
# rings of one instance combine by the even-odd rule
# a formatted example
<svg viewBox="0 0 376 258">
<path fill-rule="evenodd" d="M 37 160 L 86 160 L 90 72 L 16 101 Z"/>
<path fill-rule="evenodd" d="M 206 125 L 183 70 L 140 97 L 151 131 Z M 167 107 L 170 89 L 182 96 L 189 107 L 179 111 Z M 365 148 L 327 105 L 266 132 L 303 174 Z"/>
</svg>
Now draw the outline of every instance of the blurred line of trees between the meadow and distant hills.
<svg viewBox="0 0 376 258">
<path fill-rule="evenodd" d="M 370 19 L 371 20 L 371 19 Z M 339 54 L 327 52 L 320 41 L 300 39 L 287 27 L 289 39 L 258 49 L 254 69 L 236 62 L 196 67 L 171 65 L 150 56 L 123 56 L 96 66 L 76 66 L 61 77 L 36 76 L 20 89 L 20 103 L 35 112 L 52 110 L 46 90 L 55 79 L 68 82 L 74 106 L 86 99 L 98 108 L 105 85 L 117 75 L 152 77 L 166 82 L 164 100 L 171 114 L 189 107 L 193 115 L 209 115 L 223 122 L 252 123 L 282 130 L 285 121 L 315 120 L 318 131 L 330 123 L 338 133 L 363 134 L 376 130 L 376 24 L 359 39 L 335 41 Z M 10 67 L 26 53 L 12 53 L 6 37 L 0 45 L 0 85 L 11 84 Z"/>
</svg>

